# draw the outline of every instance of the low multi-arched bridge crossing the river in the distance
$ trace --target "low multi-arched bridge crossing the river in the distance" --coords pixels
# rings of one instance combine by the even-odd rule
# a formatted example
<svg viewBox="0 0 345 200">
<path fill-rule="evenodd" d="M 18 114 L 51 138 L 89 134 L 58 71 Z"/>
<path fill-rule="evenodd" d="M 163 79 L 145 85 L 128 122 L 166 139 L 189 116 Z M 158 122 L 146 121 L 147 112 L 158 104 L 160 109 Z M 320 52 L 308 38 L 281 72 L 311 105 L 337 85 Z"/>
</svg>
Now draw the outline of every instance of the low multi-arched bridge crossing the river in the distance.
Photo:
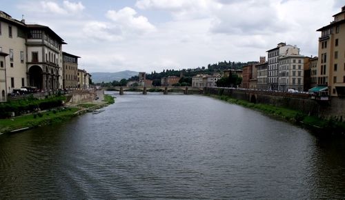
<svg viewBox="0 0 345 200">
<path fill-rule="evenodd" d="M 168 92 L 184 92 L 184 94 L 197 92 L 198 94 L 202 94 L 204 91 L 204 88 L 188 86 L 116 86 L 104 89 L 119 91 L 120 95 L 123 95 L 125 91 L 142 91 L 143 94 L 147 94 L 147 92 L 163 92 L 163 94 L 168 94 Z"/>
</svg>

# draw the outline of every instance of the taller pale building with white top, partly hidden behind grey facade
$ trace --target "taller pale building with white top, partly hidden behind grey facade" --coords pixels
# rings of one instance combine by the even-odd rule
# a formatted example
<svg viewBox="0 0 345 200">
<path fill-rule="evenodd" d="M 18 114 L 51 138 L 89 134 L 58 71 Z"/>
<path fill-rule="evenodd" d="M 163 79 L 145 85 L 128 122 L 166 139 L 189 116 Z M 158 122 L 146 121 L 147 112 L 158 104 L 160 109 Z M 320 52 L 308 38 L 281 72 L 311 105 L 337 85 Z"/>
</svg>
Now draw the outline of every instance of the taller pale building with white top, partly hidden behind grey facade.
<svg viewBox="0 0 345 200">
<path fill-rule="evenodd" d="M 299 48 L 296 46 L 278 43 L 276 48 L 267 51 L 268 54 L 268 88 L 269 90 L 278 90 L 279 87 L 279 58 L 288 55 L 298 55 Z"/>
</svg>

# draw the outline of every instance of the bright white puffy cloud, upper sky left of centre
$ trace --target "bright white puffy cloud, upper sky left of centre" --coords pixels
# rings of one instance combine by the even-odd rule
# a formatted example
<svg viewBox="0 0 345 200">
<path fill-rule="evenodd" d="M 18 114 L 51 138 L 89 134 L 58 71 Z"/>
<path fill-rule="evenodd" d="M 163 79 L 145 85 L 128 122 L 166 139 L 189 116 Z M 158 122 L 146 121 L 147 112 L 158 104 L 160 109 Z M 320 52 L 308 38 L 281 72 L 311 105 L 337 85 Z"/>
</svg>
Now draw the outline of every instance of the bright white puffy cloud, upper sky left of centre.
<svg viewBox="0 0 345 200">
<path fill-rule="evenodd" d="M 155 30 L 153 26 L 146 17 L 138 16 L 137 12 L 129 7 L 122 8 L 119 11 L 108 10 L 106 17 L 111 21 L 115 22 L 123 32 L 152 32 Z"/>
</svg>

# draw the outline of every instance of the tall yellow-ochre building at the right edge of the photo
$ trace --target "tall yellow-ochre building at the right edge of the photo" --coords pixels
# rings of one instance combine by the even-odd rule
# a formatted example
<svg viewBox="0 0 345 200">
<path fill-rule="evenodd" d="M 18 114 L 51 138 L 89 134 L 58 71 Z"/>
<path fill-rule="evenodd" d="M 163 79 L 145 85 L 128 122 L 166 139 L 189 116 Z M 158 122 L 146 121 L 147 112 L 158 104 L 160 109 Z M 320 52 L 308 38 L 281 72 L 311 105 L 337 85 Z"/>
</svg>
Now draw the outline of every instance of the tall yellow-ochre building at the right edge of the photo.
<svg viewBox="0 0 345 200">
<path fill-rule="evenodd" d="M 333 97 L 345 97 L 345 6 L 334 21 L 319 28 L 317 85 L 328 86 Z"/>
</svg>

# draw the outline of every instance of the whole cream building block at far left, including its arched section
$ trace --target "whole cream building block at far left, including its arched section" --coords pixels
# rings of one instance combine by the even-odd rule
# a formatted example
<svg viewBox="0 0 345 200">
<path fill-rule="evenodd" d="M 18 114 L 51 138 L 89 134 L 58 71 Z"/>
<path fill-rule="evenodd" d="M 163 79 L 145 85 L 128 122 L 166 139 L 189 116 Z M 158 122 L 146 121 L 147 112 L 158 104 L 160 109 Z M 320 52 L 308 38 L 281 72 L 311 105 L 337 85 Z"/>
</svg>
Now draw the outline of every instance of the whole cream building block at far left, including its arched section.
<svg viewBox="0 0 345 200">
<path fill-rule="evenodd" d="M 0 11 L 0 52 L 9 54 L 3 62 L 6 96 L 28 86 L 61 89 L 62 44 L 63 39 L 47 26 L 26 24 Z"/>
</svg>

